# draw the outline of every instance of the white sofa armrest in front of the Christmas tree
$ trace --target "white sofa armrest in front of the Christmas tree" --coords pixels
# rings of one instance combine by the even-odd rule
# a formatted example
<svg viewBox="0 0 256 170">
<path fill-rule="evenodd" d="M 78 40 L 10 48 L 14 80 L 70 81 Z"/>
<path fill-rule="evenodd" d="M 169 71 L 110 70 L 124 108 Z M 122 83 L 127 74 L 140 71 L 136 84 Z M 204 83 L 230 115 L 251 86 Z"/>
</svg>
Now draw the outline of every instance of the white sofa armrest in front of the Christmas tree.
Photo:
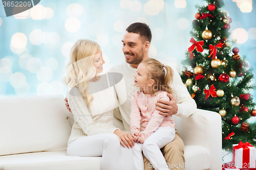
<svg viewBox="0 0 256 170">
<path fill-rule="evenodd" d="M 197 109 L 188 117 L 174 116 L 184 145 L 200 145 L 210 153 L 210 169 L 221 168 L 222 123 L 220 114 Z"/>
</svg>

